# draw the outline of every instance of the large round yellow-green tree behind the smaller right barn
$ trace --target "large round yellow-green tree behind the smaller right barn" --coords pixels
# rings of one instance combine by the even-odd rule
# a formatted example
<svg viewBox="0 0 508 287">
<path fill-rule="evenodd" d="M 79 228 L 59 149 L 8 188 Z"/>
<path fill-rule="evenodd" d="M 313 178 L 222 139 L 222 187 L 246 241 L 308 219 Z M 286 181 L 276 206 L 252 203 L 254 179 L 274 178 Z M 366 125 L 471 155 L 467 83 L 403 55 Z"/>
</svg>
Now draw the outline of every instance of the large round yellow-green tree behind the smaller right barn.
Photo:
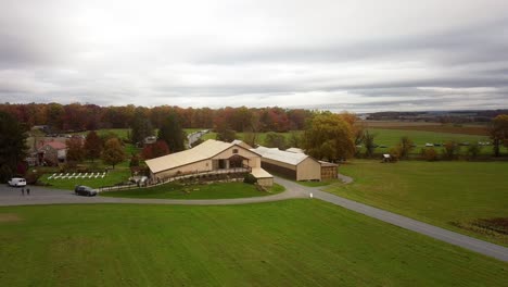
<svg viewBox="0 0 508 287">
<path fill-rule="evenodd" d="M 339 114 L 316 115 L 305 129 L 303 147 L 314 158 L 344 160 L 355 152 L 351 125 Z"/>
</svg>

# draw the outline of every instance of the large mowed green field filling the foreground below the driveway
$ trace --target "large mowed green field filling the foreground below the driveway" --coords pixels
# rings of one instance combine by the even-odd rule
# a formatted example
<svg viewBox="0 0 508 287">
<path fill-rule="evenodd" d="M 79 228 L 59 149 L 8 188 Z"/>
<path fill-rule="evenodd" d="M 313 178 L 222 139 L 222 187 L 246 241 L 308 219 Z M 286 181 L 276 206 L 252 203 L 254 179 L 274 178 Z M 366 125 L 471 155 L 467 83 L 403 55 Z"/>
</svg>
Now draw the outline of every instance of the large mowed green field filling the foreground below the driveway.
<svg viewBox="0 0 508 287">
<path fill-rule="evenodd" d="M 507 286 L 508 263 L 319 200 L 0 208 L 0 286 Z"/>
</svg>

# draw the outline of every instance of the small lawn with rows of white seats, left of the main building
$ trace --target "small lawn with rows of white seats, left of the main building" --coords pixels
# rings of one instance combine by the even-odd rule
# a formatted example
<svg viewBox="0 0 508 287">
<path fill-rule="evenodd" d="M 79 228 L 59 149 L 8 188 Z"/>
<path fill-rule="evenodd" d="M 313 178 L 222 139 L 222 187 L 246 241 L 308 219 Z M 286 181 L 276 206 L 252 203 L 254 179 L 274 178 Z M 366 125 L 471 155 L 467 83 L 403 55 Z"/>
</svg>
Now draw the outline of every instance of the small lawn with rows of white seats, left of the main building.
<svg viewBox="0 0 508 287">
<path fill-rule="evenodd" d="M 48 179 L 48 177 L 50 177 L 51 175 L 52 174 L 45 174 L 39 178 L 39 180 L 43 184 L 51 185 L 52 188 L 74 190 L 74 187 L 77 185 L 85 185 L 92 188 L 99 188 L 103 186 L 113 186 L 118 183 L 127 182 L 130 177 L 130 170 L 126 167 L 116 167 L 115 170 L 111 170 L 104 178 L 98 177 Z"/>
</svg>

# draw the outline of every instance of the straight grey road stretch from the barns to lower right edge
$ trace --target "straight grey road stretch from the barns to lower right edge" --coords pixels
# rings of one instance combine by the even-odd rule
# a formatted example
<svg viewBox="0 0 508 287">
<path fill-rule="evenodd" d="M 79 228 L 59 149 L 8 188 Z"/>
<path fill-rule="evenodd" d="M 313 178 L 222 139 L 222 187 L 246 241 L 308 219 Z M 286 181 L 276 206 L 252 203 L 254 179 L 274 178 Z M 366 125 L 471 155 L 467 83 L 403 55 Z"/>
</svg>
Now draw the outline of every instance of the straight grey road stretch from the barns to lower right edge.
<svg viewBox="0 0 508 287">
<path fill-rule="evenodd" d="M 345 209 L 356 211 L 358 213 L 363 213 L 367 216 L 370 216 L 370 217 L 373 217 L 383 222 L 388 222 L 390 224 L 403 227 L 405 229 L 417 232 L 417 233 L 433 237 L 435 239 L 508 262 L 508 248 L 506 247 L 486 242 L 477 238 L 472 238 L 466 235 L 461 235 L 461 234 L 454 233 L 447 229 L 443 229 L 441 227 L 436 227 L 436 226 L 433 226 L 423 222 L 411 220 L 409 217 L 402 216 L 402 215 L 398 215 L 389 211 L 372 208 L 370 205 L 366 205 L 366 204 L 363 204 L 353 200 L 338 197 L 338 196 L 321 191 L 319 190 L 319 188 L 302 187 L 299 184 L 284 180 L 281 178 L 277 178 L 277 183 L 285 186 L 288 189 L 294 188 L 299 190 L 300 194 L 304 192 L 304 194 L 309 195 L 312 192 L 314 198 L 318 198 L 320 200 L 325 200 L 330 203 L 343 207 Z"/>
</svg>

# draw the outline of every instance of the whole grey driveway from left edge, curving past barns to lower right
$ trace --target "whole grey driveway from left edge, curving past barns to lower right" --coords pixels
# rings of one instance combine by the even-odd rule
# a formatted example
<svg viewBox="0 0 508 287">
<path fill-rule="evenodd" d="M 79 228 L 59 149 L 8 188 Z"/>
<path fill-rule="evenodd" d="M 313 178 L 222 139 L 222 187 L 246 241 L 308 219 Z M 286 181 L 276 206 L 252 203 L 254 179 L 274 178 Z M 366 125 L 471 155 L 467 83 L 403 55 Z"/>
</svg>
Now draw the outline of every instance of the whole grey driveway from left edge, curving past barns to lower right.
<svg viewBox="0 0 508 287">
<path fill-rule="evenodd" d="M 340 177 L 341 178 L 341 177 Z M 350 183 L 351 178 L 341 178 L 344 183 Z M 27 204 L 55 204 L 55 203 L 136 203 L 136 204 L 244 204 L 256 202 L 268 202 L 291 198 L 317 198 L 345 209 L 363 213 L 367 216 L 417 232 L 435 239 L 459 246 L 484 255 L 493 257 L 508 262 L 508 248 L 475 239 L 466 235 L 454 233 L 441 227 L 422 223 L 406 216 L 402 216 L 389 211 L 369 207 L 353 200 L 323 192 L 320 187 L 305 187 L 294 182 L 276 177 L 276 182 L 285 187 L 285 191 L 266 197 L 239 198 L 239 199 L 214 199 L 214 200 L 173 200 L 173 199 L 134 199 L 134 198 L 107 198 L 107 197 L 78 197 L 74 192 L 54 190 L 40 187 L 30 187 L 30 196 L 22 196 L 21 189 L 11 187 L 0 187 L 0 205 L 27 205 Z"/>
</svg>

